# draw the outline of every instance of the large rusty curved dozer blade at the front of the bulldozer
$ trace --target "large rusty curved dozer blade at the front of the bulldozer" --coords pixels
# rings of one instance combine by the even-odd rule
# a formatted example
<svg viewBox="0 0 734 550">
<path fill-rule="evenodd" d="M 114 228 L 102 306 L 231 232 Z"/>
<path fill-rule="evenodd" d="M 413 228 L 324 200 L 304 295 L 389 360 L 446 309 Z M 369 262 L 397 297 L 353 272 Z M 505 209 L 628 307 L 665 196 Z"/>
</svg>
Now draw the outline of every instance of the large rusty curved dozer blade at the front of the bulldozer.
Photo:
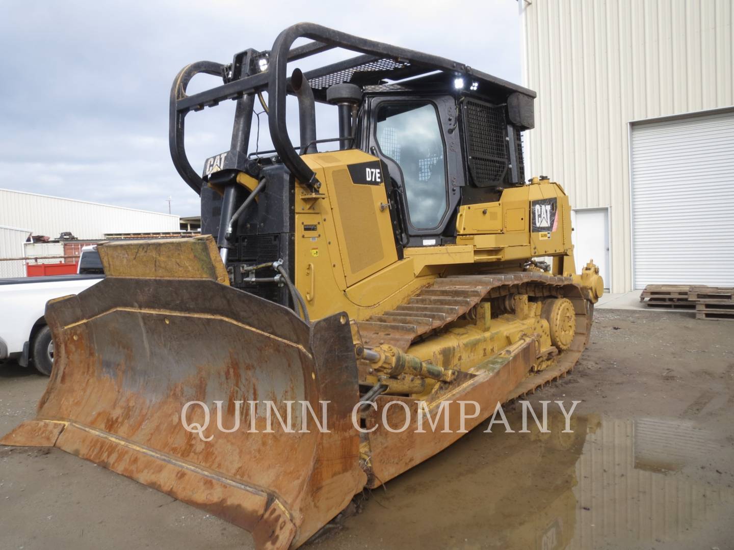
<svg viewBox="0 0 734 550">
<path fill-rule="evenodd" d="M 223 265 L 211 238 L 108 243 L 100 252 L 106 279 L 48 304 L 48 388 L 36 419 L 0 442 L 86 458 L 247 529 L 259 549 L 304 543 L 366 483 L 346 315 L 309 326 L 217 282 Z M 273 414 L 273 433 L 264 433 L 266 400 L 283 419 L 295 402 L 293 432 Z M 209 441 L 183 427 L 192 401 L 211 410 L 201 434 Z M 245 402 L 239 429 L 217 428 L 217 401 L 225 430 L 236 426 L 235 402 Z M 258 401 L 255 414 L 247 401 Z M 323 401 L 328 433 L 315 422 L 302 431 L 299 403 L 320 421 Z M 189 427 L 206 422 L 203 406 L 187 414 Z"/>
</svg>

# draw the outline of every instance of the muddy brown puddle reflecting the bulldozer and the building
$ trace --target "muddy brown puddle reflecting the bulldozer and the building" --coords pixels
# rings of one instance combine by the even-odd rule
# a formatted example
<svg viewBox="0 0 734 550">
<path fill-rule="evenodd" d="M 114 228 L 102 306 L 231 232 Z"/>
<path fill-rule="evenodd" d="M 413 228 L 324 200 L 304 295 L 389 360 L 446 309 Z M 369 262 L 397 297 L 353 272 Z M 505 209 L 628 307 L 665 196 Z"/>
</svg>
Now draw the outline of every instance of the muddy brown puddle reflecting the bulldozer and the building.
<svg viewBox="0 0 734 550">
<path fill-rule="evenodd" d="M 731 445 L 693 422 L 549 417 L 551 433 L 474 430 L 311 547 L 733 548 Z"/>
</svg>

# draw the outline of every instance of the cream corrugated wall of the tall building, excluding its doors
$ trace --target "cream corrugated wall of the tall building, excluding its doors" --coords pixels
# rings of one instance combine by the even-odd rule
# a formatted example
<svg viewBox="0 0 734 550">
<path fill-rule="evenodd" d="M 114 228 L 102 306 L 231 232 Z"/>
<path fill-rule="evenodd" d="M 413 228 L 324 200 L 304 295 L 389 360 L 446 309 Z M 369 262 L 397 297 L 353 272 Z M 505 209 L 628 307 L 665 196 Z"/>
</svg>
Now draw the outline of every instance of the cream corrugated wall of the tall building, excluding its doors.
<svg viewBox="0 0 734 550">
<path fill-rule="evenodd" d="M 731 0 L 520 0 L 538 92 L 526 173 L 611 207 L 611 290 L 632 290 L 628 123 L 734 105 Z"/>
</svg>

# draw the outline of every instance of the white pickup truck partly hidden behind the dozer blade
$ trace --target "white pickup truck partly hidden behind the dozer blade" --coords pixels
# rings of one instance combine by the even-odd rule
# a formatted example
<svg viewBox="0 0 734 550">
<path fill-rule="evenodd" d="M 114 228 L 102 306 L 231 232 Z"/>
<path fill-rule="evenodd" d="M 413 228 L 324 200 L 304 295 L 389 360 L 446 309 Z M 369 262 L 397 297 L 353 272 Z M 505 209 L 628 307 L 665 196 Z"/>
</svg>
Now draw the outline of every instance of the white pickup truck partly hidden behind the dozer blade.
<svg viewBox="0 0 734 550">
<path fill-rule="evenodd" d="M 23 367 L 32 363 L 40 373 L 51 374 L 54 342 L 43 318 L 46 302 L 79 294 L 104 278 L 96 246 L 81 250 L 77 272 L 0 279 L 0 362 L 17 359 Z"/>
</svg>

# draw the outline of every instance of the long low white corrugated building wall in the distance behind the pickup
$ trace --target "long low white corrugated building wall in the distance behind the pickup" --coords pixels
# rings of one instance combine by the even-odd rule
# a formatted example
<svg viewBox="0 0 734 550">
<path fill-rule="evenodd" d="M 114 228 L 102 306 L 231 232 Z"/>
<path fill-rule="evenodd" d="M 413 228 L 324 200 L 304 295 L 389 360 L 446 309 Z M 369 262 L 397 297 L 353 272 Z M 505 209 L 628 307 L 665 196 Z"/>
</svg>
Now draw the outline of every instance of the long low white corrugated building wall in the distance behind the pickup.
<svg viewBox="0 0 734 550">
<path fill-rule="evenodd" d="M 70 231 L 80 239 L 101 239 L 105 233 L 178 231 L 179 216 L 100 205 L 0 189 L 0 224 L 28 227 L 34 235 L 58 238 Z"/>
</svg>

